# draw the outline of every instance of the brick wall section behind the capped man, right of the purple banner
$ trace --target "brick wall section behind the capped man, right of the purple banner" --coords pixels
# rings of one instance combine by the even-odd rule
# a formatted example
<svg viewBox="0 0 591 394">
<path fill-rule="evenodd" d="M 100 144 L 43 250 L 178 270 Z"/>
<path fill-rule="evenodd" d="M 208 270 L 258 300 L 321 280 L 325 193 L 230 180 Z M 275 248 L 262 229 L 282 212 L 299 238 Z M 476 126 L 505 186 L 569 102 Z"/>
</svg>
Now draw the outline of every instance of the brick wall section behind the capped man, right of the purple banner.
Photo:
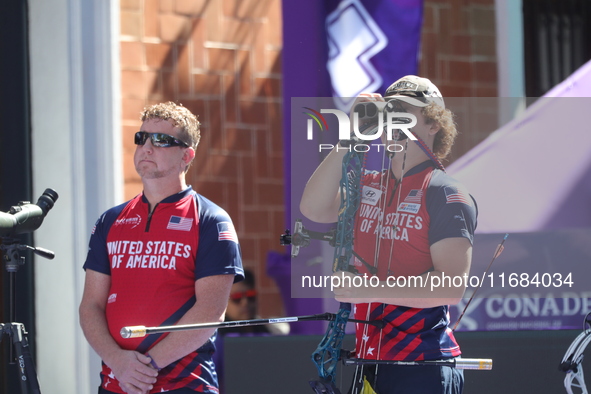
<svg viewBox="0 0 591 394">
<path fill-rule="evenodd" d="M 419 74 L 461 104 L 450 163 L 498 128 L 495 0 L 425 0 L 421 40 Z"/>
</svg>

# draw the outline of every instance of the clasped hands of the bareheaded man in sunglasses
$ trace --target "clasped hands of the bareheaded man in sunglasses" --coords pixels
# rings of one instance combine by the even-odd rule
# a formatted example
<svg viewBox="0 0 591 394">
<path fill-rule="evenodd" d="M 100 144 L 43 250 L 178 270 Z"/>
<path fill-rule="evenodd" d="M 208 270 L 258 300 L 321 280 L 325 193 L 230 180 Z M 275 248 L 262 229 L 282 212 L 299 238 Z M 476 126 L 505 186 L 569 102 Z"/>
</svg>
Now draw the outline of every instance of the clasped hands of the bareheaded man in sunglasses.
<svg viewBox="0 0 591 394">
<path fill-rule="evenodd" d="M 158 371 L 150 365 L 150 357 L 132 350 L 121 350 L 109 368 L 128 394 L 146 394 L 152 390 Z"/>
</svg>

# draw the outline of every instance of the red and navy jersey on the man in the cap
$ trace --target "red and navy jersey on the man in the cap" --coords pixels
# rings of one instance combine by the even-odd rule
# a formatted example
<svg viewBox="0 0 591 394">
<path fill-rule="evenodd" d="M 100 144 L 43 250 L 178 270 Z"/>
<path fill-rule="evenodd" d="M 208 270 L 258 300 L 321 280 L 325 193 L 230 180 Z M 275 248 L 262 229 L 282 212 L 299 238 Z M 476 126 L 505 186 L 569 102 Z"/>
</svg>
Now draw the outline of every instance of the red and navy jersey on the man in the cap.
<svg viewBox="0 0 591 394">
<path fill-rule="evenodd" d="M 433 270 L 430 247 L 453 237 L 473 241 L 477 207 L 464 187 L 424 162 L 399 184 L 390 171 L 362 176 L 362 196 L 355 221 L 355 251 L 385 281 Z M 360 273 L 367 268 L 355 258 Z M 370 309 L 369 309 L 370 308 Z M 369 310 L 368 310 L 369 309 Z M 356 304 L 355 317 L 381 320 L 383 329 L 357 325 L 357 356 L 381 360 L 435 360 L 461 354 L 449 328 L 449 307 L 409 308 Z"/>
</svg>

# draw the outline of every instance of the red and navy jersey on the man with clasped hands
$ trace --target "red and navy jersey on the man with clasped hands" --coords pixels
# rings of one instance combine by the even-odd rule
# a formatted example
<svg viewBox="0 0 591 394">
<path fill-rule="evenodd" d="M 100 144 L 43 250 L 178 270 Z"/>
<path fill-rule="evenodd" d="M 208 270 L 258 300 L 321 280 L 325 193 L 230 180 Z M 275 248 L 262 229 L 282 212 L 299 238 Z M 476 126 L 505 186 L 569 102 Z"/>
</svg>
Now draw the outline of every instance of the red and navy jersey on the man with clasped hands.
<svg viewBox="0 0 591 394">
<path fill-rule="evenodd" d="M 195 304 L 195 281 L 244 276 L 240 246 L 228 214 L 188 187 L 149 213 L 143 194 L 111 208 L 97 221 L 84 269 L 111 276 L 106 317 L 111 336 L 146 353 L 167 334 L 124 339 L 125 326 L 174 325 Z M 215 334 L 201 348 L 163 368 L 152 393 L 178 388 L 218 393 L 212 355 Z M 123 393 L 103 363 L 101 386 Z"/>
</svg>

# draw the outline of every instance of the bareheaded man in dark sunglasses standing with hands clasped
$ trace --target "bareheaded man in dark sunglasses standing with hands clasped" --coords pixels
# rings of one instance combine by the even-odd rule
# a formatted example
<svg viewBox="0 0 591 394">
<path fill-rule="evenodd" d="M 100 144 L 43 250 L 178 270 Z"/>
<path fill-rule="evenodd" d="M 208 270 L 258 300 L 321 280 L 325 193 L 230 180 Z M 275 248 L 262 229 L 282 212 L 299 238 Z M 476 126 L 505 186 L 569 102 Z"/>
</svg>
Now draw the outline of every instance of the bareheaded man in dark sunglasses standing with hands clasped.
<svg viewBox="0 0 591 394">
<path fill-rule="evenodd" d="M 175 103 L 144 109 L 134 135 L 143 192 L 97 221 L 80 323 L 103 360 L 100 394 L 218 393 L 215 330 L 124 339 L 125 326 L 222 321 L 240 247 L 228 214 L 185 181 L 200 131 Z"/>
</svg>

